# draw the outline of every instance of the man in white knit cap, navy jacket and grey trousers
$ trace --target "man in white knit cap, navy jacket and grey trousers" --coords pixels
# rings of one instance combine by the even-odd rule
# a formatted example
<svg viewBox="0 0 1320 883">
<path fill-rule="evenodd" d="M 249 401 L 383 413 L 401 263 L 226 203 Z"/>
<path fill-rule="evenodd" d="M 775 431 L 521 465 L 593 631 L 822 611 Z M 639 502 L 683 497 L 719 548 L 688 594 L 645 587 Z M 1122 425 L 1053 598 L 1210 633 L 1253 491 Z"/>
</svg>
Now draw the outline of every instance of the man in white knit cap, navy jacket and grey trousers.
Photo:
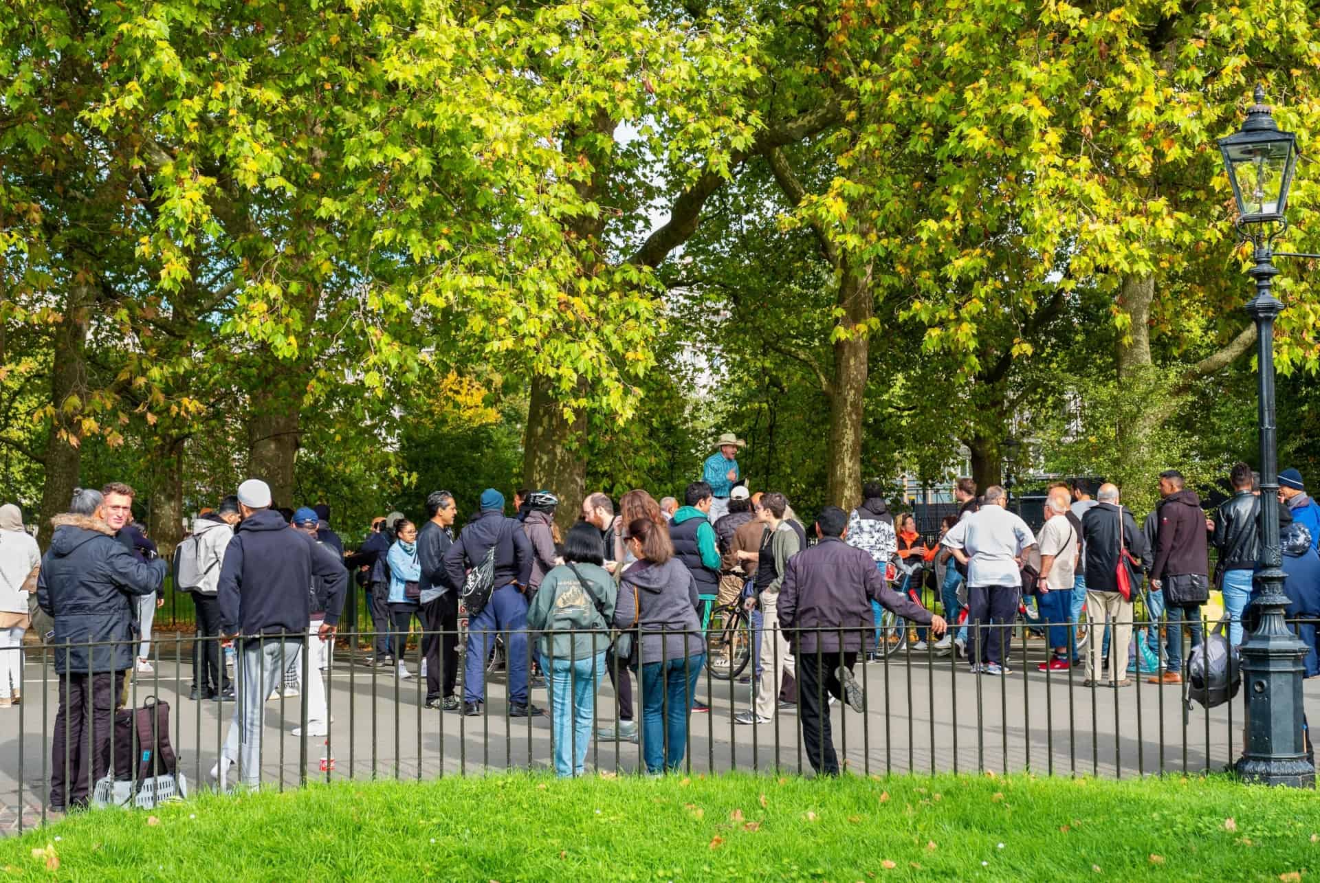
<svg viewBox="0 0 1320 883">
<path fill-rule="evenodd" d="M 271 508 L 265 482 L 252 478 L 239 484 L 239 513 L 243 520 L 224 552 L 218 593 L 220 631 L 239 639 L 239 697 L 220 759 L 211 767 L 222 788 L 235 762 L 243 784 L 256 787 L 260 781 L 265 697 L 302 652 L 313 579 L 319 581 L 326 597 L 322 640 L 334 639 L 348 586 L 342 558 L 290 528 Z M 302 721 L 304 733 L 306 729 Z"/>
</svg>

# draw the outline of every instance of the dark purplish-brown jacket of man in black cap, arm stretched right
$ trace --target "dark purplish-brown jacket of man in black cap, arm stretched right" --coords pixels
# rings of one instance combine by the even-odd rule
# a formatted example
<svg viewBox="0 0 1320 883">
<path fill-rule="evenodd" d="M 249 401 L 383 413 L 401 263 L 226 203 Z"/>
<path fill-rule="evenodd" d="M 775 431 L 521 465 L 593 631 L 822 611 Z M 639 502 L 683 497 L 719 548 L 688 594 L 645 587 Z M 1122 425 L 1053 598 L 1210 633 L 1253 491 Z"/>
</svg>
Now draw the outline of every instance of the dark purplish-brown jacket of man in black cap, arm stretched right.
<svg viewBox="0 0 1320 883">
<path fill-rule="evenodd" d="M 931 624 L 929 610 L 884 585 L 870 553 L 838 537 L 821 537 L 788 561 L 779 585 L 779 624 L 799 657 L 817 649 L 870 649 L 875 640 L 871 601 L 920 626 Z"/>
</svg>

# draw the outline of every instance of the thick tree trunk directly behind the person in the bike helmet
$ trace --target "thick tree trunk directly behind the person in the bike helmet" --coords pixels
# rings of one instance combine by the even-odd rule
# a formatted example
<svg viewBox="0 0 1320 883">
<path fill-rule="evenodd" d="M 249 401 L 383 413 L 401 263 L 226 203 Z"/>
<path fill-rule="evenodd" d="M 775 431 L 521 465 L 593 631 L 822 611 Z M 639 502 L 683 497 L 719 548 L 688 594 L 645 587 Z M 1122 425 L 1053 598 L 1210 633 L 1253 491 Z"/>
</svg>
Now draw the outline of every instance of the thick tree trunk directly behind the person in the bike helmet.
<svg viewBox="0 0 1320 883">
<path fill-rule="evenodd" d="M 527 409 L 527 437 L 523 442 L 523 484 L 552 491 L 560 498 L 554 521 L 568 531 L 577 520 L 586 496 L 586 461 L 582 454 L 586 420 L 581 412 L 564 417 L 564 405 L 554 397 L 546 377 L 532 377 L 532 400 Z"/>
</svg>

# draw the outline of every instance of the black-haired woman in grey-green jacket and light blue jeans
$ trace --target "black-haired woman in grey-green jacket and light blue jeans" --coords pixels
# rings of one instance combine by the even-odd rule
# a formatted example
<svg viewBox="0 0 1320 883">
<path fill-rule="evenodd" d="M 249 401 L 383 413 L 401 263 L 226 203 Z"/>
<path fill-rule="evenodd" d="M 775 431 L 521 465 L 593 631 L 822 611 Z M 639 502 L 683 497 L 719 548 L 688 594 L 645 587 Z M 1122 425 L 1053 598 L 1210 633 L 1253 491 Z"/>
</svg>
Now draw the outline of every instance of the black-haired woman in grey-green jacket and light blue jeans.
<svg viewBox="0 0 1320 883">
<path fill-rule="evenodd" d="M 578 521 L 564 537 L 564 564 L 545 574 L 527 610 L 528 628 L 540 632 L 537 651 L 550 696 L 554 772 L 560 777 L 583 772 L 595 689 L 606 672 L 618 590 L 603 564 L 601 532 Z"/>
</svg>

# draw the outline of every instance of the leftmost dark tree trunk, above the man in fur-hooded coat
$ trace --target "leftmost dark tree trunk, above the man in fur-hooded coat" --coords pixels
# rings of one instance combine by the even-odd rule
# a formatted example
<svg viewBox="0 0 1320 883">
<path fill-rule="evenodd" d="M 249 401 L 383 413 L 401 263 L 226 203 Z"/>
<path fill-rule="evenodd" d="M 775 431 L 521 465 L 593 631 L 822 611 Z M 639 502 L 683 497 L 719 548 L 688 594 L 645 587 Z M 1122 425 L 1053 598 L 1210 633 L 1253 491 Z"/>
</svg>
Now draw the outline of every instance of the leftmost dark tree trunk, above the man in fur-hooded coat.
<svg viewBox="0 0 1320 883">
<path fill-rule="evenodd" d="M 69 500 L 78 487 L 82 466 L 79 418 L 87 389 L 87 329 L 92 292 L 87 285 L 74 285 L 65 304 L 63 317 L 55 326 L 50 366 L 50 404 L 55 418 L 46 442 L 46 482 L 41 490 L 41 549 L 50 545 L 50 519 L 69 511 Z M 63 438 L 61 438 L 63 434 Z"/>
</svg>

